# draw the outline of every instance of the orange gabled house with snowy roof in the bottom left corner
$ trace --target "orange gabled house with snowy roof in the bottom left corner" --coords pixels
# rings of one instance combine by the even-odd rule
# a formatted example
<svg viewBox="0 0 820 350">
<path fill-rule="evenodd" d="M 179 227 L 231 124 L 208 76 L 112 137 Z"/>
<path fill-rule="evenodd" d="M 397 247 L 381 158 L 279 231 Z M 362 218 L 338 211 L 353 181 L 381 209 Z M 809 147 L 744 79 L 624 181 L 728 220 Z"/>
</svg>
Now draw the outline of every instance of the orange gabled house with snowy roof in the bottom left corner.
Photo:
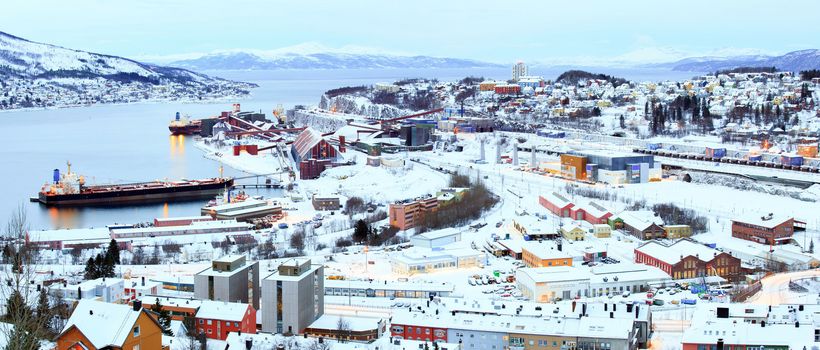
<svg viewBox="0 0 820 350">
<path fill-rule="evenodd" d="M 167 349 L 162 328 L 139 301 L 128 306 L 81 300 L 56 342 L 57 350 Z"/>
</svg>

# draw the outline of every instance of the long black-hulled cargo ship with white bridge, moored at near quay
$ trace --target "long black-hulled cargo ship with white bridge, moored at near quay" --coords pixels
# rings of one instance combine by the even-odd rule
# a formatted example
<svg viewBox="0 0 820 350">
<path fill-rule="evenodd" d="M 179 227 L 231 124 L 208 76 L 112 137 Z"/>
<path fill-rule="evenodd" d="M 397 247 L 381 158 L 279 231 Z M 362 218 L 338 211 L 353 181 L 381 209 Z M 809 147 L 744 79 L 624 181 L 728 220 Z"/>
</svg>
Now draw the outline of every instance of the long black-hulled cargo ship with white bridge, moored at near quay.
<svg viewBox="0 0 820 350">
<path fill-rule="evenodd" d="M 214 197 L 233 187 L 232 178 L 152 181 L 129 184 L 86 186 L 83 176 L 54 169 L 54 183 L 46 183 L 38 201 L 47 206 L 95 206 L 173 202 Z"/>
</svg>

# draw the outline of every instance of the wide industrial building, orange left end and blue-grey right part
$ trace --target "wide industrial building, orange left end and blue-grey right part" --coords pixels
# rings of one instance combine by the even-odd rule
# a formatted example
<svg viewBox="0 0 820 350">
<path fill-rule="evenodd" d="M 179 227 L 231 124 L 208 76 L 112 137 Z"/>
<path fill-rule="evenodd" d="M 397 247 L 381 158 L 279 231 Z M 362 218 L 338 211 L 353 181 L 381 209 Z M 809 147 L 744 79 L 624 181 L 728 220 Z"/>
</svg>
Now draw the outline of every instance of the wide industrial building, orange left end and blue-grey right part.
<svg viewBox="0 0 820 350">
<path fill-rule="evenodd" d="M 584 150 L 561 155 L 561 175 L 609 184 L 645 183 L 660 180 L 662 170 L 652 155 Z"/>
</svg>

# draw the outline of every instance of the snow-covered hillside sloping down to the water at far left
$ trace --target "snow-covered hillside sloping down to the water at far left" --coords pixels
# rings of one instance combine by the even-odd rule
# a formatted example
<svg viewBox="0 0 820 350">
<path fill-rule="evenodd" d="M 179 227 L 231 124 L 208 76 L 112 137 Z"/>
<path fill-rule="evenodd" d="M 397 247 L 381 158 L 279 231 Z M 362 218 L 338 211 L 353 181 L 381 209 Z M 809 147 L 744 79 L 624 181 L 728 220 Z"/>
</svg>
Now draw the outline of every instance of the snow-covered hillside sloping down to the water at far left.
<svg viewBox="0 0 820 350">
<path fill-rule="evenodd" d="M 247 95 L 254 84 L 0 32 L 0 109 Z"/>
</svg>

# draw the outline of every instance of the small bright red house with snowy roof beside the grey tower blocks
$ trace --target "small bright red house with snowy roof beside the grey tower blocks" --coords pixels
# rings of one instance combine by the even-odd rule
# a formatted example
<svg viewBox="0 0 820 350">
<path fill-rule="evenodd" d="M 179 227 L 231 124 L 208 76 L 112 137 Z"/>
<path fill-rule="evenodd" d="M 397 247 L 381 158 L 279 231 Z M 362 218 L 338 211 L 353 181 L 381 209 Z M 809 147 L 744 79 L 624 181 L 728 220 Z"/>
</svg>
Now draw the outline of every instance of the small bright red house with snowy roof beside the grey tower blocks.
<svg viewBox="0 0 820 350">
<path fill-rule="evenodd" d="M 256 333 L 256 310 L 245 303 L 202 301 L 195 320 L 197 329 L 210 339 L 225 340 L 230 332 Z"/>
</svg>

